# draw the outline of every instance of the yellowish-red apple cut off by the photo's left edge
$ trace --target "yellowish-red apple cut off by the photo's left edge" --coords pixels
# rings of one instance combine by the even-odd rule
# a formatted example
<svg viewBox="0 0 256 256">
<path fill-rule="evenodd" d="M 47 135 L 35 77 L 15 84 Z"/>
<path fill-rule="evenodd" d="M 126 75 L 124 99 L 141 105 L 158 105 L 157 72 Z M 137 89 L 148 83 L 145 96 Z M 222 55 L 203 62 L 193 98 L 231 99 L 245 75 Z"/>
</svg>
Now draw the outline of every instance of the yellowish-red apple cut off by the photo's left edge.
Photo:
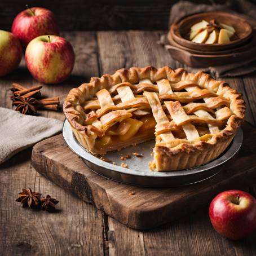
<svg viewBox="0 0 256 256">
<path fill-rule="evenodd" d="M 0 76 L 19 66 L 22 53 L 19 39 L 10 32 L 0 30 Z"/>
</svg>

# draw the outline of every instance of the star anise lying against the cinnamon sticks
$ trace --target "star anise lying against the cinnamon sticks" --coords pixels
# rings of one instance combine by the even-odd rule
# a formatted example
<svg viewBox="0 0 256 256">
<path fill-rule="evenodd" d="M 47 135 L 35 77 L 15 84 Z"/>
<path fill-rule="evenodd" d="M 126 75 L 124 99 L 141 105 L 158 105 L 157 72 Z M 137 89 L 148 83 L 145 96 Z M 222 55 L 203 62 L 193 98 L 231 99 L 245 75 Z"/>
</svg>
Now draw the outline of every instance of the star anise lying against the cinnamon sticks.
<svg viewBox="0 0 256 256">
<path fill-rule="evenodd" d="M 24 98 L 23 96 L 17 96 L 12 101 L 12 104 L 16 106 L 16 111 L 23 114 L 36 114 L 38 100 L 35 98 Z"/>
</svg>

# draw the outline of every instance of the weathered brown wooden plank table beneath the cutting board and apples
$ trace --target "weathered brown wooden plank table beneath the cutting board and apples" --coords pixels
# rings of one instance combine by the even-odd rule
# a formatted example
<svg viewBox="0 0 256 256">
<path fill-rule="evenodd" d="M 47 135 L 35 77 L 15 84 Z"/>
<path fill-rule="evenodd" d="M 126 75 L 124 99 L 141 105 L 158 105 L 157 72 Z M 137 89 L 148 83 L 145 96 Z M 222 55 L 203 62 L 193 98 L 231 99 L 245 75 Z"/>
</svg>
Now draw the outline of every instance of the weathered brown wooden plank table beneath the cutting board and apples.
<svg viewBox="0 0 256 256">
<path fill-rule="evenodd" d="M 76 52 L 72 76 L 61 85 L 43 86 L 47 96 L 65 95 L 91 76 L 113 73 L 122 67 L 155 65 L 182 67 L 156 41 L 161 31 L 67 32 Z M 256 124 L 256 74 L 225 79 L 244 94 L 246 120 Z M 36 83 L 21 67 L 0 78 L 0 105 L 11 108 L 12 82 Z M 42 116 L 64 120 L 63 113 L 41 111 Z M 19 126 L 17 125 L 17 133 Z M 248 136 L 248 135 L 245 135 Z M 135 231 L 101 213 L 39 175 L 31 166 L 31 148 L 0 166 L 1 255 L 255 255 L 256 233 L 229 241 L 211 227 L 208 207 L 151 231 Z M 241 166 L 242 167 L 242 166 Z M 58 213 L 22 209 L 15 202 L 22 188 L 49 193 L 60 200 Z M 239 187 L 256 195 L 256 186 Z M 157 191 L 156 191 L 157 193 Z M 184 205 L 186 211 L 186 205 Z"/>
</svg>

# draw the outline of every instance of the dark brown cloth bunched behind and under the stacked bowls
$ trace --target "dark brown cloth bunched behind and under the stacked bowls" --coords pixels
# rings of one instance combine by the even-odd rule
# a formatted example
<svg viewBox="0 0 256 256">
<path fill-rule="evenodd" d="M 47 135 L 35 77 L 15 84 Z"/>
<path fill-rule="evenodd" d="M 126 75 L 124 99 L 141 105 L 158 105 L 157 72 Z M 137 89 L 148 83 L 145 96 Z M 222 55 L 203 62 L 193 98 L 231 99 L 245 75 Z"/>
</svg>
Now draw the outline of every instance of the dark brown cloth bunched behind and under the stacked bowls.
<svg viewBox="0 0 256 256">
<path fill-rule="evenodd" d="M 224 3 L 224 5 L 216 5 L 214 3 L 212 5 L 205 5 L 188 1 L 180 1 L 173 5 L 171 8 L 169 26 L 181 17 L 204 11 L 227 11 L 232 13 L 237 12 L 248 20 L 251 27 L 256 29 L 256 20 L 254 20 L 256 17 L 256 6 L 246 0 L 228 0 Z M 166 45 L 166 37 L 161 37 L 160 42 Z M 187 66 L 186 68 L 190 72 L 195 72 L 200 69 L 193 69 Z M 256 56 L 251 56 L 251 59 L 248 61 L 216 67 L 201 68 L 201 70 L 211 73 L 211 75 L 214 77 L 235 77 L 249 74 L 256 70 Z"/>
</svg>

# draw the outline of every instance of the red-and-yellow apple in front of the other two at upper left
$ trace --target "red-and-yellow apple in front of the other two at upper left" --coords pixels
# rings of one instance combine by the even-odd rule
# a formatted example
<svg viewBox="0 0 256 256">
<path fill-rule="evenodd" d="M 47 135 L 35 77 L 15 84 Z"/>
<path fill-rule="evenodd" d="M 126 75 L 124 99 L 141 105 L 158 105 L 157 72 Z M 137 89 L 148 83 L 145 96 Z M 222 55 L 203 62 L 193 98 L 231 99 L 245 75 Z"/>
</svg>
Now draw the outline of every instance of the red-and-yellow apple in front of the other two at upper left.
<svg viewBox="0 0 256 256">
<path fill-rule="evenodd" d="M 74 59 L 72 45 L 59 36 L 34 38 L 25 52 L 29 72 L 43 83 L 60 83 L 66 80 L 72 72 Z"/>
</svg>

